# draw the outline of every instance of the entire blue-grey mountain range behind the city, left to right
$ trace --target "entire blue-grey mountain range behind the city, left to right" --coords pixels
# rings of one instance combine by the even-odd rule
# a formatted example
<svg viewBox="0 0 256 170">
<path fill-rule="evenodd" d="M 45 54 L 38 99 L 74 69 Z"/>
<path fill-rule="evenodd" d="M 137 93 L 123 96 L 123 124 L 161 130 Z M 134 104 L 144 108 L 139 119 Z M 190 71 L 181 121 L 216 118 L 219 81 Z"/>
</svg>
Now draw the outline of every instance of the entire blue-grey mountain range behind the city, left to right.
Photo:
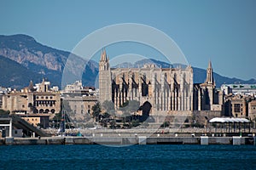
<svg viewBox="0 0 256 170">
<path fill-rule="evenodd" d="M 67 62 L 68 61 L 68 62 Z M 185 67 L 186 65 L 173 64 L 156 59 L 142 59 L 134 64 L 123 63 L 114 67 L 143 67 L 153 64 L 162 68 Z M 67 75 L 62 77 L 63 71 Z M 214 65 L 213 65 L 214 71 Z M 194 82 L 205 82 L 206 69 L 193 67 Z M 45 77 L 52 85 L 61 87 L 82 79 L 84 86 L 95 86 L 98 75 L 98 63 L 85 60 L 75 54 L 44 46 L 33 37 L 26 35 L 0 36 L 0 86 L 24 88 L 30 80 L 41 82 Z M 214 73 L 216 85 L 219 88 L 223 83 L 256 83 L 256 80 L 241 80 L 222 77 Z"/>
</svg>

